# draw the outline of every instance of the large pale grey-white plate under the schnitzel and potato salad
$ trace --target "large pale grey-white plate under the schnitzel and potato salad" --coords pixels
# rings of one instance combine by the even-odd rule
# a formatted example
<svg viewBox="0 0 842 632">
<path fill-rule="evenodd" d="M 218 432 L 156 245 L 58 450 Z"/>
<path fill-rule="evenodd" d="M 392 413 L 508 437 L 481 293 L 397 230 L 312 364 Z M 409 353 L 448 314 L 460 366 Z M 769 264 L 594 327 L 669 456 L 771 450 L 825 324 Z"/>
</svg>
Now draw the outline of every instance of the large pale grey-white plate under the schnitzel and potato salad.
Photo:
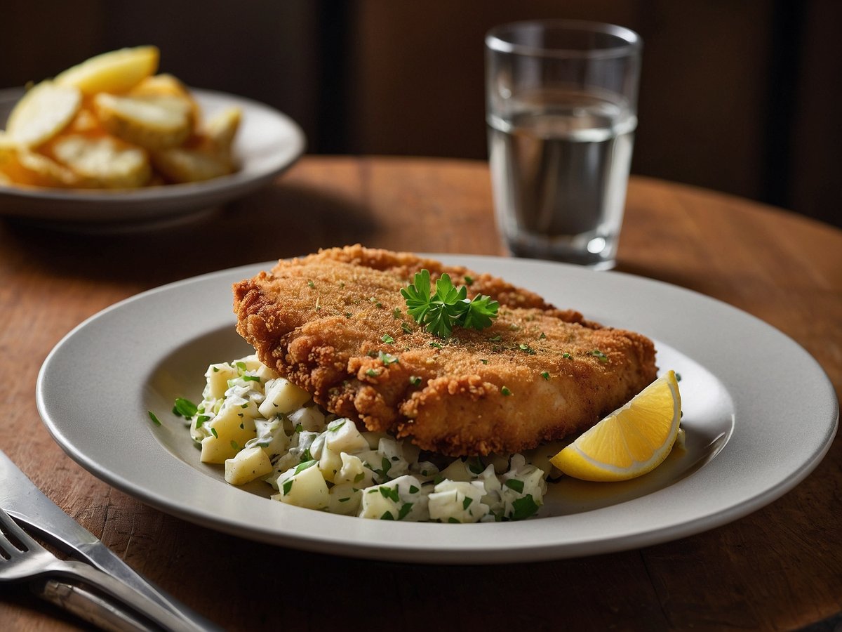
<svg viewBox="0 0 842 632">
<path fill-rule="evenodd" d="M 381 522 L 267 500 L 199 462 L 169 413 L 200 399 L 210 362 L 251 352 L 234 331 L 231 284 L 271 264 L 179 281 L 74 329 L 38 379 L 40 414 L 84 468 L 189 521 L 273 544 L 386 560 L 492 563 L 632 549 L 714 528 L 764 506 L 815 468 L 838 421 L 818 364 L 776 329 L 679 287 L 531 260 L 440 256 L 504 276 L 589 319 L 651 336 L 681 374 L 685 452 L 616 484 L 551 485 L 540 517 L 472 525 Z M 147 410 L 163 426 L 154 426 Z"/>
</svg>

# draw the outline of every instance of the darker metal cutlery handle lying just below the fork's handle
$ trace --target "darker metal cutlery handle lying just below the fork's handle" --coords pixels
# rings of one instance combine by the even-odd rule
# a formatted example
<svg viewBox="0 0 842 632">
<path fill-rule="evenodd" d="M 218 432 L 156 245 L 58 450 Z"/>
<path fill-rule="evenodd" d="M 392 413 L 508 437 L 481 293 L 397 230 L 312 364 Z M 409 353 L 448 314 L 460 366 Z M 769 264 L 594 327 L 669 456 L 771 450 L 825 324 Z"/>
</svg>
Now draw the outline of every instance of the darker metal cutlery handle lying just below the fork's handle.
<svg viewBox="0 0 842 632">
<path fill-rule="evenodd" d="M 32 589 L 45 601 L 75 614 L 79 619 L 105 632 L 152 632 L 152 628 L 143 624 L 131 613 L 118 608 L 98 594 L 86 590 L 84 586 L 48 579 L 36 581 Z"/>
</svg>

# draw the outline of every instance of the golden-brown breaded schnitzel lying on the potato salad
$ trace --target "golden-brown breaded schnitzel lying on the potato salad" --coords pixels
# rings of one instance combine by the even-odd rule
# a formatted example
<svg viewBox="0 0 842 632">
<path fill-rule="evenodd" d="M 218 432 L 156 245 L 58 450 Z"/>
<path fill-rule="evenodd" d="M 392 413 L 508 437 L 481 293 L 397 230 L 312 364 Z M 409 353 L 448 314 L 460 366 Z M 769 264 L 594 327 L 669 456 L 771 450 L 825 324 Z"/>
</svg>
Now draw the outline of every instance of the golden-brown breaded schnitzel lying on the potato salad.
<svg viewBox="0 0 842 632">
<path fill-rule="evenodd" d="M 400 290 L 447 272 L 500 304 L 442 340 Z M 234 286 L 237 331 L 327 410 L 450 456 L 514 453 L 593 426 L 656 378 L 645 336 L 585 320 L 493 276 L 414 254 L 327 249 Z"/>
</svg>

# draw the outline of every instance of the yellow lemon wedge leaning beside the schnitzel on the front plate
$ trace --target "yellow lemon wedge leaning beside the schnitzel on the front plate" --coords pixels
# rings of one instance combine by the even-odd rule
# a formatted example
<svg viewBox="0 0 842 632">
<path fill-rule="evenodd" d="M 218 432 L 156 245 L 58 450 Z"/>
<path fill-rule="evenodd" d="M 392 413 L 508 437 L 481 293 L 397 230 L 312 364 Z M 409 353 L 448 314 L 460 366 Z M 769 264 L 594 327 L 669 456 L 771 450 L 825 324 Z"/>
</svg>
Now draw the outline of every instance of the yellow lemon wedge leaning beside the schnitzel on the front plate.
<svg viewBox="0 0 842 632">
<path fill-rule="evenodd" d="M 667 458 L 680 420 L 679 383 L 669 371 L 550 460 L 576 479 L 633 479 Z"/>
</svg>

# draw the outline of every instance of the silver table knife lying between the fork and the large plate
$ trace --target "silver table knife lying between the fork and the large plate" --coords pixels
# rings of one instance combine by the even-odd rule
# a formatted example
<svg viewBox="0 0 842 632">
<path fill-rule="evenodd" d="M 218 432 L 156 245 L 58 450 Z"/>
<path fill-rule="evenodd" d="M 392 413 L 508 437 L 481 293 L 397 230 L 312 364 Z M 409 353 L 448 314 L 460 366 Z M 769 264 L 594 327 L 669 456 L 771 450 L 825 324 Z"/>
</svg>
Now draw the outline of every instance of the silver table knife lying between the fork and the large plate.
<svg viewBox="0 0 842 632">
<path fill-rule="evenodd" d="M 0 481 L 3 481 L 3 485 L 0 485 L 0 507 L 35 535 L 44 538 L 65 553 L 115 576 L 200 629 L 221 630 L 216 624 L 210 623 L 199 613 L 195 613 L 138 575 L 93 533 L 73 520 L 39 490 L 3 451 L 0 451 Z"/>
</svg>

